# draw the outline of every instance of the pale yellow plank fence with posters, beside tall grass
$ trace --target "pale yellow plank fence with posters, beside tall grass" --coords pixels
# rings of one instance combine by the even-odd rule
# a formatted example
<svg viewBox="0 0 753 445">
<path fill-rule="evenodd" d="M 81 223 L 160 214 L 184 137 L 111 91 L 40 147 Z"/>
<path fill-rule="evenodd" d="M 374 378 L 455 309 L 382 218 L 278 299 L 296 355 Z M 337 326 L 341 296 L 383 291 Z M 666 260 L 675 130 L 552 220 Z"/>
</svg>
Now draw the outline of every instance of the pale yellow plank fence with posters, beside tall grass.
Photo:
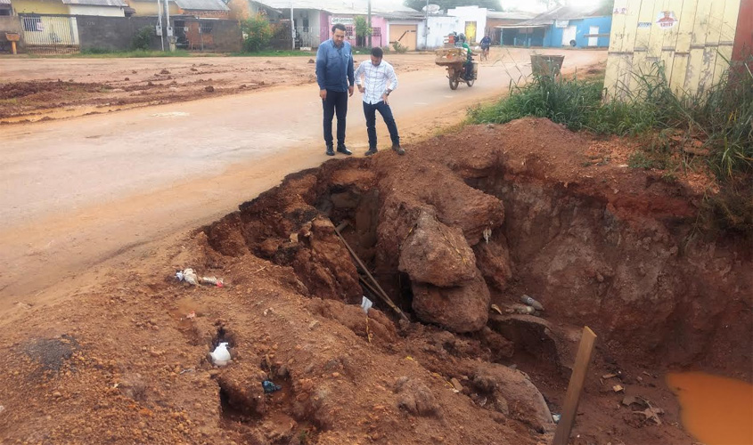
<svg viewBox="0 0 753 445">
<path fill-rule="evenodd" d="M 739 48 L 753 45 L 753 0 L 615 0 L 604 87 L 610 97 L 636 91 L 635 74 L 664 67 L 676 92 L 716 85 Z"/>
</svg>

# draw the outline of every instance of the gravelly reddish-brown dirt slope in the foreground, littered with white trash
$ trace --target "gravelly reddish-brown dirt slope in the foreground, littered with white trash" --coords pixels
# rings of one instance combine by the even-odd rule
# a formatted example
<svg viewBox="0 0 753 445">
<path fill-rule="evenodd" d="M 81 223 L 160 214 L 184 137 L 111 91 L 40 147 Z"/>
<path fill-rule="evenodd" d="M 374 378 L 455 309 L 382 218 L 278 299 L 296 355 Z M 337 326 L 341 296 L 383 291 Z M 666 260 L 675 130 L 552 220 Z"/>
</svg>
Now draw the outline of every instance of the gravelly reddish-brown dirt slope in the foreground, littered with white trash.
<svg viewBox="0 0 753 445">
<path fill-rule="evenodd" d="M 429 344 L 430 331 L 406 326 L 409 331 L 398 334 L 379 310 L 367 319 L 360 307 L 303 296 L 290 267 L 252 256 L 213 259 L 201 233 L 186 246 L 172 249 L 151 273 L 168 277 L 176 266 L 195 263 L 200 271 L 221 272 L 226 287 L 184 287 L 141 273 L 123 283 L 113 276 L 97 291 L 45 309 L 4 336 L 0 365 L 13 373 L 0 379 L 4 440 L 546 440 L 512 414 L 479 410 L 454 392 L 447 382 L 463 379 L 458 369 L 438 374 L 423 365 L 427 352 L 406 349 Z M 206 266 L 217 261 L 221 269 Z M 82 305 L 90 312 L 82 313 Z M 99 318 L 90 319 L 94 314 Z M 37 316 L 58 322 L 42 333 L 35 330 Z M 12 346 L 35 332 L 53 339 L 67 338 L 55 332 L 75 332 L 80 346 L 59 369 L 37 374 L 42 363 Z M 443 335 L 462 348 L 462 340 Z M 233 360 L 215 368 L 205 356 L 220 340 L 230 343 Z M 470 369 L 475 361 L 462 363 Z M 280 390 L 265 392 L 265 380 Z"/>
</svg>

